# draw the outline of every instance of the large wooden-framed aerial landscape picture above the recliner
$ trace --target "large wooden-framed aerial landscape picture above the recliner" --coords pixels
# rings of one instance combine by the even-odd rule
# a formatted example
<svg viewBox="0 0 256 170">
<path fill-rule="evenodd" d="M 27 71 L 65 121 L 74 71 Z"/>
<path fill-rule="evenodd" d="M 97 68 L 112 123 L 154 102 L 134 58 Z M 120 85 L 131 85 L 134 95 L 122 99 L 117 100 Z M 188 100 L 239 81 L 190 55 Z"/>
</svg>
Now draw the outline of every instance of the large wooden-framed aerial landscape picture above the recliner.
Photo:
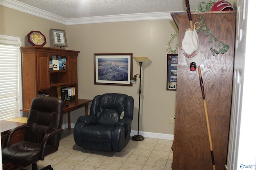
<svg viewBox="0 0 256 170">
<path fill-rule="evenodd" d="M 132 86 L 133 53 L 94 54 L 94 84 Z"/>
</svg>

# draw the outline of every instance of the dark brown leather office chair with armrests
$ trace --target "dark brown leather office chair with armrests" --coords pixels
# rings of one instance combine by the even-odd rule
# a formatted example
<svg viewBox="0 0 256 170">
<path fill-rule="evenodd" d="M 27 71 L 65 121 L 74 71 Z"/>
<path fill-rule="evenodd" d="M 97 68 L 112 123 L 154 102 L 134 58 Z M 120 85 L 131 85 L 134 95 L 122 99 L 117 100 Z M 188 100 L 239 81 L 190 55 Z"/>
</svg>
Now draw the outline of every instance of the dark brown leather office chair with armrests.
<svg viewBox="0 0 256 170">
<path fill-rule="evenodd" d="M 56 152 L 60 142 L 63 116 L 63 101 L 54 97 L 36 97 L 32 100 L 26 125 L 11 129 L 6 137 L 2 158 L 13 164 L 32 164 L 37 170 L 36 162 L 44 160 Z M 12 134 L 25 128 L 24 141 L 9 146 Z M 42 170 L 52 170 L 51 165 Z"/>
</svg>

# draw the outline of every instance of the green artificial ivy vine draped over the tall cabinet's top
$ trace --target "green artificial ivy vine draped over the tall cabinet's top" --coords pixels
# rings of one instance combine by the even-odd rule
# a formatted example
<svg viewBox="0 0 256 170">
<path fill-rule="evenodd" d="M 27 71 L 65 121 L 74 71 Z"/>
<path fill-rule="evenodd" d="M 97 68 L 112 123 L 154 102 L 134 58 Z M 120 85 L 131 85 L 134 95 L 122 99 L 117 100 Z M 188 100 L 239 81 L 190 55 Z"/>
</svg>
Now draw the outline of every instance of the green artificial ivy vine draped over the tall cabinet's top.
<svg viewBox="0 0 256 170">
<path fill-rule="evenodd" d="M 204 21 L 204 14 L 203 12 L 206 11 L 210 11 L 212 9 L 212 6 L 214 5 L 215 2 L 212 2 L 211 0 L 209 2 L 200 2 L 198 4 L 198 8 L 194 11 L 198 12 L 198 19 L 200 19 L 199 23 L 200 23 L 200 27 L 198 29 L 196 29 L 197 33 L 202 29 L 205 32 L 205 36 L 209 37 L 209 43 L 213 43 L 215 42 L 218 49 L 216 49 L 214 46 L 212 46 L 210 48 L 210 50 L 212 51 L 212 55 L 218 55 L 218 54 L 224 54 L 226 51 L 228 51 L 229 49 L 229 45 L 222 43 L 221 41 L 219 41 L 218 39 L 216 39 L 216 37 L 214 37 L 214 35 L 212 35 L 212 31 L 207 27 L 205 21 Z M 178 30 L 174 32 L 174 34 L 170 35 L 170 39 L 168 39 L 167 41 L 167 50 L 170 51 L 170 53 L 176 53 L 177 51 L 177 44 L 174 47 L 174 49 L 172 49 L 172 47 L 170 46 L 170 44 L 172 43 L 172 40 L 178 35 Z"/>
</svg>

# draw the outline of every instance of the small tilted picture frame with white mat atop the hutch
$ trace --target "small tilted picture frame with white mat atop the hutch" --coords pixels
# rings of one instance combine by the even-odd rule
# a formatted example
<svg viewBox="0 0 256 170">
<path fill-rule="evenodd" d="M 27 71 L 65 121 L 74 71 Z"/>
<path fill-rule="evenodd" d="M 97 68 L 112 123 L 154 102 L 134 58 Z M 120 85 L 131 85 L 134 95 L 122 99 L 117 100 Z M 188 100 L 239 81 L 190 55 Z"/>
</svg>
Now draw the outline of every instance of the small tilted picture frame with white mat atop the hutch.
<svg viewBox="0 0 256 170">
<path fill-rule="evenodd" d="M 50 29 L 52 45 L 54 47 L 68 47 L 66 31 L 62 29 Z"/>
</svg>

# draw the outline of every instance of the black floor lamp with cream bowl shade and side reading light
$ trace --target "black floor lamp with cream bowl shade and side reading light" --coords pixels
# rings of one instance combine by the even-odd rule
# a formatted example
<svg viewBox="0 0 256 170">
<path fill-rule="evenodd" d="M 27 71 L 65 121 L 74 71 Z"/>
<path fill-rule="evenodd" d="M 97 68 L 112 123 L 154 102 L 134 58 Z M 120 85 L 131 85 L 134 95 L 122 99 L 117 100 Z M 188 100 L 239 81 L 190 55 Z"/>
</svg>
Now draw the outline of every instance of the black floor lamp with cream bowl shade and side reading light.
<svg viewBox="0 0 256 170">
<path fill-rule="evenodd" d="M 136 74 L 132 80 L 131 80 L 131 83 L 133 84 L 136 84 L 136 81 L 137 81 L 137 75 L 139 75 L 139 78 L 140 78 L 140 87 L 141 87 L 141 66 L 142 66 L 142 63 L 144 63 L 145 61 L 148 60 L 148 57 L 133 57 L 133 59 L 135 61 L 137 61 L 139 64 L 140 64 L 140 74 Z M 138 134 L 137 135 L 134 135 L 132 137 L 132 140 L 134 141 L 143 141 L 144 140 L 144 137 L 142 135 L 139 135 L 139 127 L 140 127 L 140 94 L 141 94 L 141 90 L 139 88 L 139 108 L 138 108 Z"/>
</svg>

